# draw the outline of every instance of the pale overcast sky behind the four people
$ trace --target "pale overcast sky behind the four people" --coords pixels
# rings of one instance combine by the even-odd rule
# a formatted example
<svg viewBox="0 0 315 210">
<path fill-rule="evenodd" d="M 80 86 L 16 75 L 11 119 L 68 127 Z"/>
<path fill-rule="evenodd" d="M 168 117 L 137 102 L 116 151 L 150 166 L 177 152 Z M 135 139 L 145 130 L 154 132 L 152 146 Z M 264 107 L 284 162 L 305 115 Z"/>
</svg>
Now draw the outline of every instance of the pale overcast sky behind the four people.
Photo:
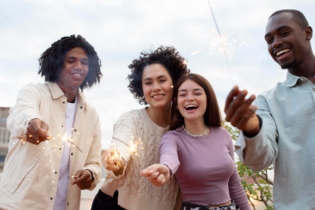
<svg viewBox="0 0 315 210">
<path fill-rule="evenodd" d="M 115 120 L 139 105 L 127 89 L 127 65 L 142 50 L 173 45 L 192 73 L 209 80 L 221 108 L 234 85 L 259 94 L 285 80 L 264 40 L 268 17 L 300 10 L 315 25 L 315 1 L 210 1 L 224 38 L 223 53 L 208 0 L 29 0 L 0 4 L 0 106 L 11 107 L 28 83 L 41 83 L 38 57 L 63 36 L 80 34 L 102 61 L 100 85 L 85 91 L 102 124 L 103 148 Z M 312 40 L 312 45 L 314 41 Z"/>
</svg>

